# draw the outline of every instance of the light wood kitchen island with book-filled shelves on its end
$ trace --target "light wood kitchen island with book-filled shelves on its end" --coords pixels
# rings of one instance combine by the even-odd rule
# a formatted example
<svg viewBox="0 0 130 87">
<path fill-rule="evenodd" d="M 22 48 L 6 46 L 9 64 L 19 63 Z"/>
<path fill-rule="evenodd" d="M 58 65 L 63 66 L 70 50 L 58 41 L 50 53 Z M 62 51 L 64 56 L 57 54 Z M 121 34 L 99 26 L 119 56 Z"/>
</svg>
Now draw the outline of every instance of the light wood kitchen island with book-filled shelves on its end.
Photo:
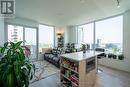
<svg viewBox="0 0 130 87">
<path fill-rule="evenodd" d="M 70 53 L 60 58 L 60 78 L 63 87 L 93 87 L 96 81 L 96 56 L 85 56 L 82 53 Z M 88 57 L 88 58 L 87 58 Z"/>
</svg>

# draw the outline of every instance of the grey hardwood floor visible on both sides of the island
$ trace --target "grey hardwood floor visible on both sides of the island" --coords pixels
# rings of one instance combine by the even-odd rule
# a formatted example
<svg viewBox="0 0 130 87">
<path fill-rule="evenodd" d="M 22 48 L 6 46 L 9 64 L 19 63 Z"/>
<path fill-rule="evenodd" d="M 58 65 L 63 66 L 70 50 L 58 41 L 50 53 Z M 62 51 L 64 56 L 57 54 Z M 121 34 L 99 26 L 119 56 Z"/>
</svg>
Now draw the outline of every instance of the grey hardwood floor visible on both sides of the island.
<svg viewBox="0 0 130 87">
<path fill-rule="evenodd" d="M 97 74 L 94 87 L 130 87 L 130 73 L 100 66 L 103 72 Z M 59 74 L 30 84 L 29 87 L 61 87 Z"/>
</svg>

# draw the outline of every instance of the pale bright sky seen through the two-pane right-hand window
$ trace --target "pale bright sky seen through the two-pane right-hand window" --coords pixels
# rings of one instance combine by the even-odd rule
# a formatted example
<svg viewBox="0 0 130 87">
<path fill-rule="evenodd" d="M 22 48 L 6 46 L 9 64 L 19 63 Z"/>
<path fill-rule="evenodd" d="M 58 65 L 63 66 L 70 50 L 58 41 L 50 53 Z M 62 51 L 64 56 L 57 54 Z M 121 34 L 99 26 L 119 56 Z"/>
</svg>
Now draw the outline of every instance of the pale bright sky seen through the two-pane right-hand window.
<svg viewBox="0 0 130 87">
<path fill-rule="evenodd" d="M 93 43 L 94 24 L 79 26 L 79 39 L 83 37 L 84 42 Z M 82 31 L 82 32 L 81 32 Z M 80 35 L 82 34 L 82 35 Z M 101 43 L 122 43 L 123 40 L 123 16 L 105 19 L 95 23 L 96 40 L 101 39 Z M 82 41 L 82 40 L 78 40 Z"/>
</svg>

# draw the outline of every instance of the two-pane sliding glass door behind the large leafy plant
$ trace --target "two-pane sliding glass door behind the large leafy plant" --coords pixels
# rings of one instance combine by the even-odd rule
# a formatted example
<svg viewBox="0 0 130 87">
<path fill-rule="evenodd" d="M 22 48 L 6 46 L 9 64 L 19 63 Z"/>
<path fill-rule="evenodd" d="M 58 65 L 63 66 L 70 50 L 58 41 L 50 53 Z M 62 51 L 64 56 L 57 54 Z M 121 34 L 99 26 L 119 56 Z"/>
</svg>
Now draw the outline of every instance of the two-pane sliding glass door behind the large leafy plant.
<svg viewBox="0 0 130 87">
<path fill-rule="evenodd" d="M 18 42 L 24 41 L 23 45 L 31 50 L 30 59 L 37 57 L 37 44 L 36 44 L 36 28 L 29 28 L 18 25 L 8 25 L 8 41 Z"/>
</svg>

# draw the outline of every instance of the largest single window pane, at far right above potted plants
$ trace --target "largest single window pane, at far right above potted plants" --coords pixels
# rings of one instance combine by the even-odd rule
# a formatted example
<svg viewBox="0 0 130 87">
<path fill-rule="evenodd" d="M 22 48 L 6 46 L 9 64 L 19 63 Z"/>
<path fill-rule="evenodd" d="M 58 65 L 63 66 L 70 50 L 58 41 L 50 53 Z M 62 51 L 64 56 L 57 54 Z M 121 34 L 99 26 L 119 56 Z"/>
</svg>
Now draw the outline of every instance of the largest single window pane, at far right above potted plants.
<svg viewBox="0 0 130 87">
<path fill-rule="evenodd" d="M 96 47 L 122 51 L 123 16 L 118 16 L 95 23 Z"/>
</svg>

